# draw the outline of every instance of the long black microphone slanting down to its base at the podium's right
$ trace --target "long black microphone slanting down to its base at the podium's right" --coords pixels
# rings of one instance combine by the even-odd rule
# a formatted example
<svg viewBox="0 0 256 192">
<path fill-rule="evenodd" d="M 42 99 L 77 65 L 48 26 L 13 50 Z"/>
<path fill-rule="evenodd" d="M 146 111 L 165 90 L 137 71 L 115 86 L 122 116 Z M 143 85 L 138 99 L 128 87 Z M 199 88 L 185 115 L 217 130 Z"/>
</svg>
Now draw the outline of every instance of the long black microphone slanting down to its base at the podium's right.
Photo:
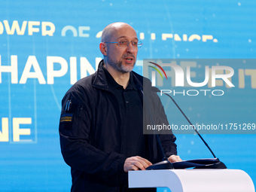
<svg viewBox="0 0 256 192">
<path fill-rule="evenodd" d="M 160 92 L 165 94 L 166 96 L 169 96 L 170 99 L 172 99 L 172 96 L 170 96 L 167 93 L 161 92 L 157 87 L 151 87 L 151 90 L 154 92 Z M 172 102 L 176 105 L 179 111 L 181 111 L 181 114 L 186 118 L 187 122 L 190 123 L 190 125 L 193 127 L 194 131 L 197 133 L 197 136 L 200 137 L 200 139 L 203 141 L 203 143 L 206 145 L 206 147 L 209 149 L 209 151 L 212 153 L 212 156 L 214 159 L 203 159 L 203 160 L 187 160 L 187 161 L 181 161 L 181 162 L 175 162 L 172 163 L 172 166 L 174 169 L 184 169 L 189 167 L 194 167 L 194 169 L 227 169 L 227 166 L 225 166 L 224 163 L 222 163 L 213 153 L 212 149 L 209 147 L 209 145 L 206 143 L 206 141 L 203 139 L 203 137 L 200 135 L 200 133 L 197 131 L 195 126 L 190 122 L 190 120 L 187 118 L 187 116 L 184 114 L 184 112 L 181 110 L 181 108 L 178 106 L 178 104 L 175 102 L 174 99 L 172 99 Z"/>
</svg>

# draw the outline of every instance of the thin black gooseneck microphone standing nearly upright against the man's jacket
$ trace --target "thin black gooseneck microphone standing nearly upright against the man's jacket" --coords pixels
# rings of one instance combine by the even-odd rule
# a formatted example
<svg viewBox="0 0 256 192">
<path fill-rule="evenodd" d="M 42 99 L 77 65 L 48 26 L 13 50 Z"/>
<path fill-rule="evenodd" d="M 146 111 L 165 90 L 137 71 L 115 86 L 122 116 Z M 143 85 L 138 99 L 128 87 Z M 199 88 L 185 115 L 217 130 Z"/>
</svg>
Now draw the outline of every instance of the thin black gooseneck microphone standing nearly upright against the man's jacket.
<svg viewBox="0 0 256 192">
<path fill-rule="evenodd" d="M 151 110 L 150 110 L 149 105 L 148 105 L 148 100 L 147 100 L 147 98 L 146 98 L 146 96 L 145 96 L 145 94 L 144 94 L 144 92 L 142 90 L 142 87 L 139 84 L 136 84 L 136 87 L 142 93 L 142 97 L 145 100 L 145 104 L 147 106 L 147 110 L 148 110 L 148 113 L 150 115 L 150 119 L 152 121 L 152 124 L 155 126 L 154 119 L 153 119 L 153 116 L 151 114 Z M 158 145 L 160 146 L 160 150 L 161 150 L 161 153 L 162 153 L 162 156 L 163 156 L 163 161 L 161 161 L 159 163 L 154 163 L 153 165 L 148 166 L 146 168 L 146 170 L 152 170 L 152 169 L 173 169 L 172 163 L 169 162 L 169 160 L 167 160 L 166 154 L 164 154 L 163 146 L 161 144 L 160 138 L 159 138 L 159 136 L 158 136 L 156 131 L 155 131 L 155 136 L 157 137 L 157 142 L 158 142 Z"/>
</svg>

